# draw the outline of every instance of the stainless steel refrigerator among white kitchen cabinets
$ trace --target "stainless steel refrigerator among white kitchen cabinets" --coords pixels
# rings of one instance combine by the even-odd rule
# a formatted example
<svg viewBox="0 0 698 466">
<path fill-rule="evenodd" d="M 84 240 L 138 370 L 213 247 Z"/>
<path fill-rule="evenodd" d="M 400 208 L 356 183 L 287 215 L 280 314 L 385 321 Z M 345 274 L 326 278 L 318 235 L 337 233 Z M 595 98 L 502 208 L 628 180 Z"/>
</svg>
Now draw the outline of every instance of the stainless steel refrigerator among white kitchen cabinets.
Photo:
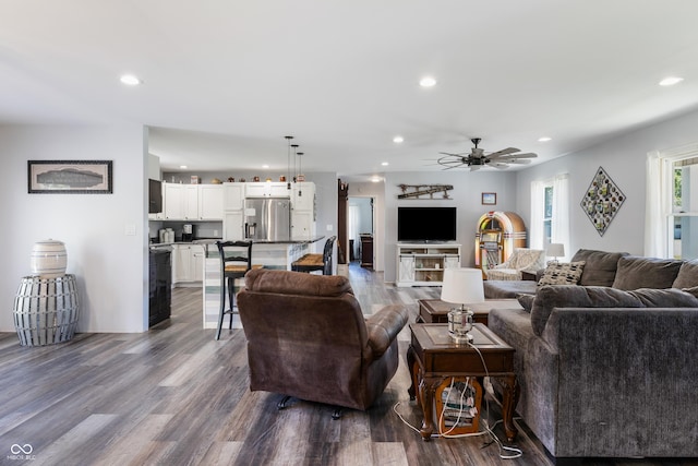
<svg viewBox="0 0 698 466">
<path fill-rule="evenodd" d="M 288 198 L 245 199 L 244 236 L 266 241 L 291 239 L 291 201 Z"/>
</svg>

